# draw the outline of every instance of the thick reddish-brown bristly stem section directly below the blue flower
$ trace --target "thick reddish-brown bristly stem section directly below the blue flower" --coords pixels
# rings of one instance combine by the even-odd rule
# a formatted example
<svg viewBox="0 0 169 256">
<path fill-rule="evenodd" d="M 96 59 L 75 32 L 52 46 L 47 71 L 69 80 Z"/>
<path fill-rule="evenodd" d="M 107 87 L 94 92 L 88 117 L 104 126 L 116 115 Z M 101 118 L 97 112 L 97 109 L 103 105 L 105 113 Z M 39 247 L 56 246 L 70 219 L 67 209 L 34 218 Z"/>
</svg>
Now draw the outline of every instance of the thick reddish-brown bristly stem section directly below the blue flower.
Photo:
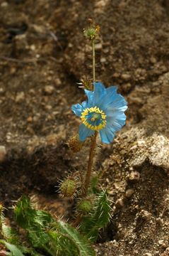
<svg viewBox="0 0 169 256">
<path fill-rule="evenodd" d="M 88 187 L 91 181 L 91 171 L 93 167 L 93 158 L 95 156 L 95 146 L 96 146 L 96 139 L 98 136 L 98 132 L 96 131 L 94 136 L 91 138 L 91 149 L 89 153 L 89 159 L 88 159 L 88 169 L 86 171 L 86 178 L 85 178 L 85 184 L 83 188 L 82 196 L 86 196 L 88 193 Z"/>
</svg>

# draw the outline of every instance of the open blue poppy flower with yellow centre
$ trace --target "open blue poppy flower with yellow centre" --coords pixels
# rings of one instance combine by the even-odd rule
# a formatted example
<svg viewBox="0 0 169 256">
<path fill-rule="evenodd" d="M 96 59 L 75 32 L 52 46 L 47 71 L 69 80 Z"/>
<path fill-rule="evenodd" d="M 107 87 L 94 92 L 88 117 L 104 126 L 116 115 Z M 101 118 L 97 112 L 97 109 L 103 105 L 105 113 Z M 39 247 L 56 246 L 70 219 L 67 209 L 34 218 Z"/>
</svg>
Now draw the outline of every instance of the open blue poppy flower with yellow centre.
<svg viewBox="0 0 169 256">
<path fill-rule="evenodd" d="M 98 131 L 102 142 L 109 144 L 125 124 L 127 102 L 117 93 L 117 87 L 105 88 L 101 82 L 94 83 L 94 91 L 85 90 L 88 100 L 76 104 L 71 110 L 81 117 L 79 138 L 83 142 L 86 137 Z"/>
</svg>

